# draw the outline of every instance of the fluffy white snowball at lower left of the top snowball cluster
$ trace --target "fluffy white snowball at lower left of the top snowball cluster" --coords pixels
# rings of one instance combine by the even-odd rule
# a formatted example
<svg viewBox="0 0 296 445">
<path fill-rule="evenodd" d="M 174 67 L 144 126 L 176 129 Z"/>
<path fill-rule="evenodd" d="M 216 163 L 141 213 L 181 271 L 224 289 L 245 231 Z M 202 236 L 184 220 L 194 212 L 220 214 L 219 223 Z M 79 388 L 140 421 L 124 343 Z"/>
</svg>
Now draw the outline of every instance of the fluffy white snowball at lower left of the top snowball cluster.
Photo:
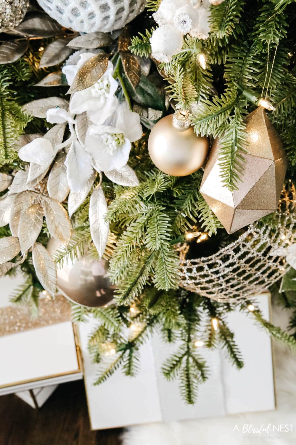
<svg viewBox="0 0 296 445">
<path fill-rule="evenodd" d="M 152 57 L 159 62 L 169 62 L 182 48 L 183 35 L 170 24 L 157 28 L 150 37 Z"/>
</svg>

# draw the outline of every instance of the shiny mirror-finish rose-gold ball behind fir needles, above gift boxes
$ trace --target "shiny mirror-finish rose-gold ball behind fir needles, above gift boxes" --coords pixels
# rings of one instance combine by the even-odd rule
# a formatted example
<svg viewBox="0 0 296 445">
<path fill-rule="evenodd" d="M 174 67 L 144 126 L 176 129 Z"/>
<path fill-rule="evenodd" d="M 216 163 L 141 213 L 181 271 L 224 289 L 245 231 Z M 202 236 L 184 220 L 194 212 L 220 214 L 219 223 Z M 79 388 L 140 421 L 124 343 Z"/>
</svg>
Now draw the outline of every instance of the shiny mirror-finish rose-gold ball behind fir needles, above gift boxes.
<svg viewBox="0 0 296 445">
<path fill-rule="evenodd" d="M 51 238 L 47 250 L 51 255 L 59 243 Z M 57 270 L 57 288 L 73 303 L 86 307 L 103 307 L 114 303 L 114 290 L 108 275 L 108 262 L 105 259 L 96 261 L 87 256 L 64 261 L 63 267 Z"/>
</svg>

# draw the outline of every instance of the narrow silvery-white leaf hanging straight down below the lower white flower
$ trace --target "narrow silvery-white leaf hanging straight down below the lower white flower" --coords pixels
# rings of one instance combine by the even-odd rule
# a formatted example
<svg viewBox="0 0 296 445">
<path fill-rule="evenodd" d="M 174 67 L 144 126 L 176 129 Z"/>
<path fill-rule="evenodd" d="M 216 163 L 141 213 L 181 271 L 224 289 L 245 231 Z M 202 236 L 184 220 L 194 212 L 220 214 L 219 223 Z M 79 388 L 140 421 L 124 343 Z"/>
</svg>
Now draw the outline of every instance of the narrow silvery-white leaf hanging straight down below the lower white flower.
<svg viewBox="0 0 296 445">
<path fill-rule="evenodd" d="M 89 206 L 89 222 L 91 229 L 91 239 L 99 253 L 101 259 L 105 251 L 108 235 L 109 223 L 106 221 L 107 202 L 101 186 L 97 186 L 91 194 Z"/>
</svg>

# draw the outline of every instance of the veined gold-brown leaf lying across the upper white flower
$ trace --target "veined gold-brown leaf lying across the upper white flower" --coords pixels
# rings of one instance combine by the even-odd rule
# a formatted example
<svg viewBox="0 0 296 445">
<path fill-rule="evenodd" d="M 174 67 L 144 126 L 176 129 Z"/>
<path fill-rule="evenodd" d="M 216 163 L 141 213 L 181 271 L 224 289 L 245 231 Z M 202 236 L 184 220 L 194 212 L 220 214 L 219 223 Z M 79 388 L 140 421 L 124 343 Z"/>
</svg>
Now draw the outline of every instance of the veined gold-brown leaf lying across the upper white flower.
<svg viewBox="0 0 296 445">
<path fill-rule="evenodd" d="M 108 54 L 99 53 L 88 59 L 77 71 L 67 93 L 76 93 L 94 85 L 107 70 Z"/>
</svg>

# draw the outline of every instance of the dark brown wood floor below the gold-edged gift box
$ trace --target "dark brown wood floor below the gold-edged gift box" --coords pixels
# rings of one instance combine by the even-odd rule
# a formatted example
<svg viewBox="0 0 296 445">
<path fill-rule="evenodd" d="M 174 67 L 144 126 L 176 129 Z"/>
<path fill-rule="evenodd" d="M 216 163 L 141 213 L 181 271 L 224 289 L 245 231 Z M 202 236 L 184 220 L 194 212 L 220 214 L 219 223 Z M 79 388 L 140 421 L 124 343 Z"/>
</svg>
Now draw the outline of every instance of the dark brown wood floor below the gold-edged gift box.
<svg viewBox="0 0 296 445">
<path fill-rule="evenodd" d="M 90 430 L 83 381 L 60 385 L 39 410 L 0 397 L 0 445 L 120 445 L 121 433 Z"/>
</svg>

